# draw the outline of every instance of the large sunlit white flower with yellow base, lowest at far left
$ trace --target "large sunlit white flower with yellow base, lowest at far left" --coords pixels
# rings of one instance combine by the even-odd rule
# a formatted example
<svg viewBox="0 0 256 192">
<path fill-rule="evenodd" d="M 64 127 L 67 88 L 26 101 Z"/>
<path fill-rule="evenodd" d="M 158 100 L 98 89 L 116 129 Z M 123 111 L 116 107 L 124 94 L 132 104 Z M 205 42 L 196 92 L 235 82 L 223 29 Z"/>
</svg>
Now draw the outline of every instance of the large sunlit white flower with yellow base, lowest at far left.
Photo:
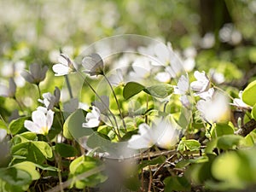
<svg viewBox="0 0 256 192">
<path fill-rule="evenodd" d="M 27 130 L 34 133 L 47 135 L 53 123 L 53 119 L 54 112 L 52 110 L 38 108 L 38 110 L 32 112 L 32 121 L 25 120 L 24 126 Z"/>
</svg>

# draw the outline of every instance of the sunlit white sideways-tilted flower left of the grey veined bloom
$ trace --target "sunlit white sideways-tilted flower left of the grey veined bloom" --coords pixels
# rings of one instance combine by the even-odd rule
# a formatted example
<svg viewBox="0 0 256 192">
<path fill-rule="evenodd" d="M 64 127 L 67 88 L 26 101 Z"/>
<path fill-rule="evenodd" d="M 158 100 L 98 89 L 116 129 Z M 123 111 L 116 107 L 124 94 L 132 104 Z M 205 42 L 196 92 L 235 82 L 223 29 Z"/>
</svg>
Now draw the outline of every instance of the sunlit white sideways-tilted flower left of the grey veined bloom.
<svg viewBox="0 0 256 192">
<path fill-rule="evenodd" d="M 59 63 L 52 67 L 52 70 L 55 72 L 55 76 L 67 75 L 68 73 L 76 71 L 73 61 L 71 61 L 67 55 L 61 54 L 58 61 Z"/>
</svg>

